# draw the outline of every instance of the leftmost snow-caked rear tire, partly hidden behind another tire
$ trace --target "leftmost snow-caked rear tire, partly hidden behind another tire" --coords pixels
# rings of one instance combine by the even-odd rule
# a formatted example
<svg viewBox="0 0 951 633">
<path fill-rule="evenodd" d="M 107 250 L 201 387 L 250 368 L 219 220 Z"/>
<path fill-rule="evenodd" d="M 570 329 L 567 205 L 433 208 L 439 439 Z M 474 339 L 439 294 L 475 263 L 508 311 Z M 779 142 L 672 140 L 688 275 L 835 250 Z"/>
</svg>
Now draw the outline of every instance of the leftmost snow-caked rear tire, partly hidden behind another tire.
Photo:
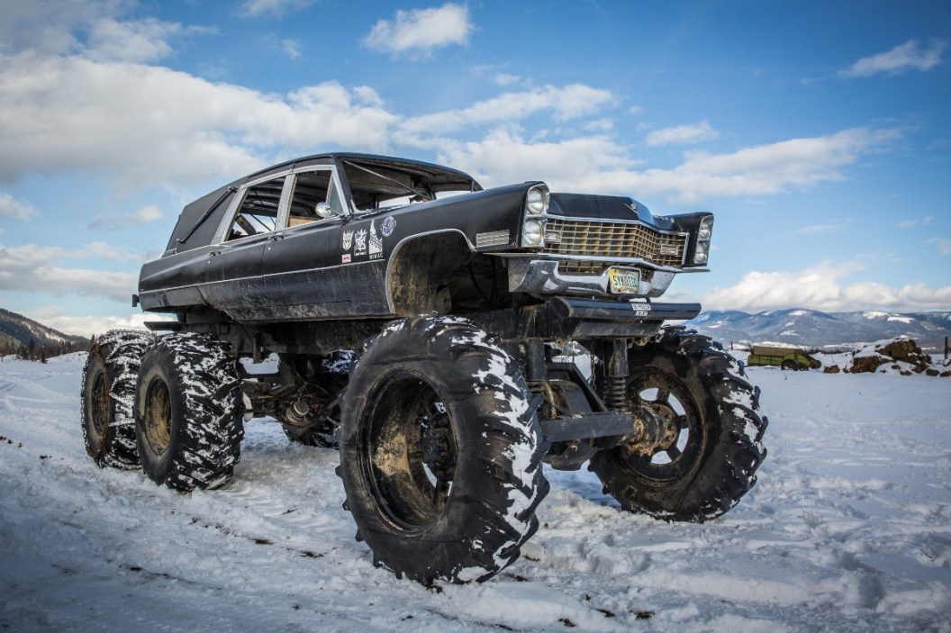
<svg viewBox="0 0 951 633">
<path fill-rule="evenodd" d="M 80 394 L 83 440 L 100 467 L 139 468 L 132 401 L 139 363 L 154 342 L 148 332 L 112 330 L 89 350 Z"/>
</svg>

